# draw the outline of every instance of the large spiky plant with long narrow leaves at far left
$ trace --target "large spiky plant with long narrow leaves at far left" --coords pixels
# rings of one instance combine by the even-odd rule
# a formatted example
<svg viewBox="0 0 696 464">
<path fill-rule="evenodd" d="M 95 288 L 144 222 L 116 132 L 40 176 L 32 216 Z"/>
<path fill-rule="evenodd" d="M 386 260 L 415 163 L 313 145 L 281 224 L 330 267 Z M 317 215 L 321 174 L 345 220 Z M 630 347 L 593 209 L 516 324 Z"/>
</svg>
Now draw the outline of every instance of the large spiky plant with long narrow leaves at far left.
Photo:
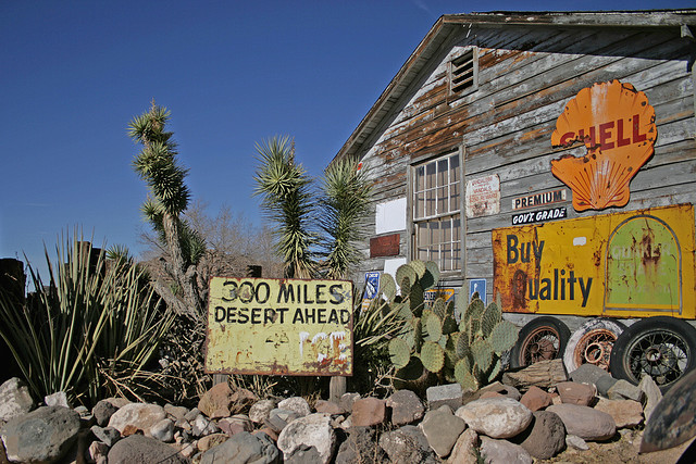
<svg viewBox="0 0 696 464">
<path fill-rule="evenodd" d="M 64 244 L 63 244 L 64 242 Z M 94 404 L 104 393 L 140 398 L 159 341 L 173 316 L 144 286 L 133 263 L 107 266 L 89 242 L 70 238 L 46 260 L 49 285 L 28 263 L 35 292 L 25 304 L 0 292 L 0 335 L 36 398 L 64 391 Z"/>
</svg>

